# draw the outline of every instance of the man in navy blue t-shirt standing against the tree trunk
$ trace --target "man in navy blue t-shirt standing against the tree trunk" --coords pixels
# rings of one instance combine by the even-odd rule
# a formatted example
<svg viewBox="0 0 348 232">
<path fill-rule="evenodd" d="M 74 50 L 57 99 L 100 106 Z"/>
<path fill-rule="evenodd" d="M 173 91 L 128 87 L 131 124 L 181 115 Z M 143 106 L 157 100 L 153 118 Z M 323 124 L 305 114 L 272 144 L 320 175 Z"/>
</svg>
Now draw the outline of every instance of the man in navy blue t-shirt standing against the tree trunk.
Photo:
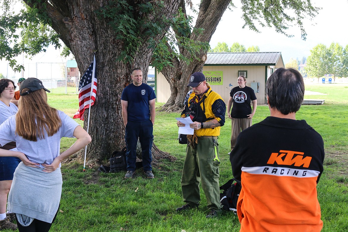
<svg viewBox="0 0 348 232">
<path fill-rule="evenodd" d="M 151 148 L 153 124 L 155 124 L 156 95 L 149 85 L 143 83 L 143 73 L 140 69 L 133 69 L 130 76 L 133 83 L 124 88 L 121 95 L 127 146 L 125 178 L 132 178 L 134 175 L 138 138 L 142 149 L 144 172 L 148 178 L 153 178 Z"/>
</svg>

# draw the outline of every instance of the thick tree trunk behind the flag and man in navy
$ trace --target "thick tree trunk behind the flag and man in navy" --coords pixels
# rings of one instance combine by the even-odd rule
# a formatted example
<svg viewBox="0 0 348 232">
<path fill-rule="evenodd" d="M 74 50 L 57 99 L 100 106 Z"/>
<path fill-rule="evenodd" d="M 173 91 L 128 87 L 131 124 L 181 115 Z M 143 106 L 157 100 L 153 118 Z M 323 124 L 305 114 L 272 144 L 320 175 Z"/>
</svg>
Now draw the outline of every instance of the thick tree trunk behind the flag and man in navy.
<svg viewBox="0 0 348 232">
<path fill-rule="evenodd" d="M 32 2 L 25 0 L 32 7 Z M 136 4 L 132 1 L 132 4 Z M 136 1 L 140 3 L 142 1 Z M 133 62 L 116 62 L 116 58 L 124 50 L 124 42 L 116 39 L 116 35 L 102 17 L 95 11 L 107 5 L 107 0 L 51 0 L 47 3 L 47 14 L 52 19 L 52 28 L 75 56 L 79 70 L 84 72 L 96 55 L 97 94 L 96 102 L 90 110 L 89 134 L 92 142 L 87 147 L 88 162 L 99 162 L 110 158 L 115 150 L 124 145 L 125 127 L 121 115 L 121 93 L 131 82 L 130 71 L 139 68 L 143 71 L 144 82 L 147 81 L 148 67 L 153 50 L 149 47 L 149 37 L 143 35 L 141 46 L 134 56 Z M 179 7 L 178 0 L 165 1 L 156 15 L 171 18 Z M 44 10 L 44 9 L 42 9 Z M 145 13 L 144 13 L 145 14 Z M 156 15 L 142 15 L 148 20 L 158 20 Z M 163 38 L 165 31 L 157 34 L 155 41 Z M 82 73 L 83 74 L 83 73 Z M 87 129 L 88 110 L 85 111 L 84 128 Z M 153 148 L 153 159 L 169 157 L 156 146 Z M 169 157 L 172 159 L 172 157 Z"/>
</svg>

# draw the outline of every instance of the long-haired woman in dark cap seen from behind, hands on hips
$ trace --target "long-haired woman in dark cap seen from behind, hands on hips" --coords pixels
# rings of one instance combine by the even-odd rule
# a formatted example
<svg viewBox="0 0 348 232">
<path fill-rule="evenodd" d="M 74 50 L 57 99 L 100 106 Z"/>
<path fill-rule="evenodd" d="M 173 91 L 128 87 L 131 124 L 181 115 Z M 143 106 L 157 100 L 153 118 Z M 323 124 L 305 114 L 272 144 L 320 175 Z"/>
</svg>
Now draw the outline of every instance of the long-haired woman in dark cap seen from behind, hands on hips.
<svg viewBox="0 0 348 232">
<path fill-rule="evenodd" d="M 16 214 L 20 232 L 47 232 L 60 205 L 61 162 L 84 148 L 91 138 L 71 117 L 48 105 L 45 91 L 49 90 L 40 80 L 28 78 L 19 89 L 17 114 L 0 125 L 0 145 L 17 143 L 17 151 L 0 149 L 0 156 L 22 160 L 14 173 L 7 209 Z M 60 154 L 62 137 L 77 140 Z"/>
</svg>

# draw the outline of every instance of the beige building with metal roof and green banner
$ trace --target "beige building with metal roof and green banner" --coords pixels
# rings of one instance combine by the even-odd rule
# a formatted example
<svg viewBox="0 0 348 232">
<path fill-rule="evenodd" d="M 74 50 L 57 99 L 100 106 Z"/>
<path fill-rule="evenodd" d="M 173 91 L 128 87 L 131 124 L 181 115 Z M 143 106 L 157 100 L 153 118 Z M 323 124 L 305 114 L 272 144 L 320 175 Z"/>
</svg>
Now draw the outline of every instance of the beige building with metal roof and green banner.
<svg viewBox="0 0 348 232">
<path fill-rule="evenodd" d="M 266 104 L 265 84 L 275 69 L 284 67 L 280 52 L 208 53 L 203 73 L 213 91 L 227 104 L 230 90 L 237 85 L 239 75 L 246 77 L 246 86 L 254 89 L 258 104 Z M 191 73 L 188 73 L 188 76 Z M 167 102 L 169 83 L 162 73 L 156 73 L 157 102 Z"/>
</svg>

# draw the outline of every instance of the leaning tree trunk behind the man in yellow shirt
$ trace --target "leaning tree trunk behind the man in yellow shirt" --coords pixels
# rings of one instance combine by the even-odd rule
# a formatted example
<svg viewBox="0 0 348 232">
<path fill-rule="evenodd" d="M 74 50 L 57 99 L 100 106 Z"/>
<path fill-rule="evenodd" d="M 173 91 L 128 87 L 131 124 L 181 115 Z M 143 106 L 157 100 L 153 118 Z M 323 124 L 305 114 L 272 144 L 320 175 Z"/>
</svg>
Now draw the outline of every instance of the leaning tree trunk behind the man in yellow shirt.
<svg viewBox="0 0 348 232">
<path fill-rule="evenodd" d="M 226 11 L 230 0 L 202 0 L 199 7 L 199 14 L 196 21 L 196 28 L 203 28 L 203 34 L 192 33 L 190 38 L 194 41 L 209 42 L 215 32 L 217 24 Z M 183 9 L 184 10 L 184 9 Z M 179 46 L 179 51 L 185 57 L 193 57 L 188 53 L 185 47 Z M 189 88 L 189 77 L 194 72 L 201 72 L 206 60 L 207 51 L 200 51 L 197 55 L 200 59 L 193 60 L 189 65 L 183 61 L 179 61 L 177 57 L 173 57 L 173 66 L 165 66 L 161 71 L 169 82 L 171 88 L 171 96 L 163 110 L 180 111 L 183 108 L 183 101 Z"/>
</svg>

